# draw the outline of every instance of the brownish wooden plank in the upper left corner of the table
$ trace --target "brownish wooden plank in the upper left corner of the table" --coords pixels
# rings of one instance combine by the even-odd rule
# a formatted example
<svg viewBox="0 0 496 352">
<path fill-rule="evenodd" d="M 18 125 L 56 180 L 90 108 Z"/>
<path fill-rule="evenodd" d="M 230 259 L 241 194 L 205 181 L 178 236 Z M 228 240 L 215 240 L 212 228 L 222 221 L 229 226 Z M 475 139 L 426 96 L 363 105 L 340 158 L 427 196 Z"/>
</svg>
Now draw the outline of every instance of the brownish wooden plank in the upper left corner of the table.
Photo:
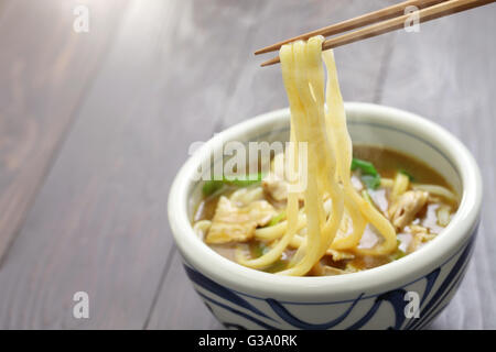
<svg viewBox="0 0 496 352">
<path fill-rule="evenodd" d="M 0 8 L 0 263 L 42 184 L 126 1 L 8 1 Z M 104 20 L 105 19 L 105 20 Z"/>
</svg>

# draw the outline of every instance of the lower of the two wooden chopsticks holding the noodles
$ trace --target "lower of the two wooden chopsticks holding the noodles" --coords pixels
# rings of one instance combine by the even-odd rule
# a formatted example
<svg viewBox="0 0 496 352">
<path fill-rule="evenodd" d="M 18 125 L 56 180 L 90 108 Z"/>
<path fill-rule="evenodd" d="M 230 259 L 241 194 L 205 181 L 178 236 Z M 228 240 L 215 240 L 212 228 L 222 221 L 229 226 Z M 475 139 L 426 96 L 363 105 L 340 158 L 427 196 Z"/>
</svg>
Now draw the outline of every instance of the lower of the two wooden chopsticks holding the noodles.
<svg viewBox="0 0 496 352">
<path fill-rule="evenodd" d="M 466 11 L 470 9 L 478 8 L 492 2 L 496 2 L 496 0 L 449 0 L 438 4 L 434 4 L 429 8 L 424 8 L 419 11 L 419 22 L 428 22 L 431 20 L 435 20 L 442 16 L 446 16 L 450 14 L 454 14 L 457 12 Z M 384 33 L 392 32 L 405 26 L 405 22 L 409 20 L 411 13 L 403 14 L 390 20 L 386 20 L 373 25 L 369 25 L 365 29 L 353 31 L 349 33 L 345 33 L 339 36 L 334 36 L 328 38 L 322 43 L 322 50 L 330 50 L 337 46 L 342 46 L 349 43 L 355 43 L 365 38 L 369 38 L 373 36 L 377 36 Z M 279 56 L 272 59 L 269 59 L 261 64 L 262 67 L 270 66 L 279 63 Z"/>
</svg>

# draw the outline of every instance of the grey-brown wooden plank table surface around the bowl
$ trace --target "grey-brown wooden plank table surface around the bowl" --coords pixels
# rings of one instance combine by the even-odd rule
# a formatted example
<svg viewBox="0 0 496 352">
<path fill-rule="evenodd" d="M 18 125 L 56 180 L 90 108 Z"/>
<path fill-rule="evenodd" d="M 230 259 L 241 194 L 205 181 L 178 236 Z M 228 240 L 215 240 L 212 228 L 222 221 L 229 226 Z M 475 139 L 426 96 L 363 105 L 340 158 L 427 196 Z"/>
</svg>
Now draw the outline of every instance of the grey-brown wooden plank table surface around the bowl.
<svg viewBox="0 0 496 352">
<path fill-rule="evenodd" d="M 0 328 L 219 328 L 166 218 L 188 146 L 287 105 L 256 48 L 393 2 L 0 2 Z M 336 50 L 346 100 L 425 116 L 482 166 L 474 258 L 434 329 L 496 328 L 495 18 L 489 6 Z M 79 290 L 89 319 L 73 317 Z"/>
</svg>

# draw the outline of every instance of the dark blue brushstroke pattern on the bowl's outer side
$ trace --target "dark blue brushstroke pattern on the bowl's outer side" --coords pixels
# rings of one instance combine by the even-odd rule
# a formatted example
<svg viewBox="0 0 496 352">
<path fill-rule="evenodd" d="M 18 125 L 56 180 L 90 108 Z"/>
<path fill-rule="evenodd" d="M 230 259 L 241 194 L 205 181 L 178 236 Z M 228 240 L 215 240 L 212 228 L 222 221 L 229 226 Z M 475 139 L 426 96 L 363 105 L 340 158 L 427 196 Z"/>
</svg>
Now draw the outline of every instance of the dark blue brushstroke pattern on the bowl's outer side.
<svg viewBox="0 0 496 352">
<path fill-rule="evenodd" d="M 375 319 L 377 312 L 381 309 L 381 307 L 385 306 L 385 304 L 389 304 L 393 311 L 393 315 L 389 315 L 389 329 L 422 329 L 427 327 L 441 312 L 442 308 L 448 305 L 449 300 L 452 297 L 452 294 L 454 294 L 457 286 L 460 285 L 472 254 L 476 233 L 477 228 L 475 228 L 473 234 L 465 245 L 463 245 L 440 267 L 435 268 L 428 275 L 422 276 L 393 290 L 373 296 L 366 296 L 366 294 L 363 293 L 354 300 L 347 301 L 291 302 L 279 301 L 270 297 L 255 297 L 219 285 L 218 283 L 193 268 L 191 264 L 184 264 L 184 268 L 187 276 L 193 282 L 196 292 L 207 304 L 207 307 L 228 328 L 246 329 L 246 326 L 242 322 L 249 321 L 258 328 L 270 330 L 288 328 L 313 330 L 333 328 L 346 330 L 362 329 L 367 328 L 367 324 L 369 324 Z M 448 275 L 442 279 L 438 288 L 433 292 L 433 287 L 435 286 L 435 284 L 438 284 L 438 280 L 441 277 L 441 272 L 448 272 Z M 405 294 L 409 290 L 409 285 L 419 280 L 425 282 L 425 286 L 420 300 L 419 318 L 407 319 L 405 316 L 405 308 L 408 301 L 405 300 Z M 428 299 L 431 293 L 432 296 Z M 254 304 L 249 302 L 248 299 L 261 300 L 263 301 L 265 306 L 263 308 L 257 308 Z M 346 318 L 349 318 L 357 304 L 366 299 L 374 299 L 371 307 L 359 319 L 354 318 L 353 323 L 339 326 L 343 321 L 345 321 Z M 287 308 L 287 306 L 290 305 L 347 305 L 347 307 L 345 308 L 343 314 L 327 322 L 312 323 L 305 321 L 303 317 L 299 317 L 298 315 L 291 312 Z M 228 311 L 231 316 L 235 316 L 238 321 L 227 321 L 216 312 L 217 310 Z M 267 314 L 262 310 L 267 311 Z M 270 314 L 273 314 L 274 317 L 270 317 L 269 311 Z"/>
</svg>

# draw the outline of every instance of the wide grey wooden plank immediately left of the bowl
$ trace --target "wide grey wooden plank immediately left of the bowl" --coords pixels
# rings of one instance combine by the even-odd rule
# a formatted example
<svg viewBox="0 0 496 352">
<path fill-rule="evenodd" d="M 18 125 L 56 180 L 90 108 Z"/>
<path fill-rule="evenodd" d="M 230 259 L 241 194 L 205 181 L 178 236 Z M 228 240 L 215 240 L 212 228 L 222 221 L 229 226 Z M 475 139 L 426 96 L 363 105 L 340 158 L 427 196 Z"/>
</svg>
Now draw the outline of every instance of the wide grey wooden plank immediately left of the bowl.
<svg viewBox="0 0 496 352">
<path fill-rule="evenodd" d="M 244 41 L 226 29 L 244 33 L 256 14 L 222 3 L 132 1 L 0 272 L 0 328 L 149 320 L 170 263 L 170 183 L 225 112 Z M 78 290 L 90 319 L 72 316 Z"/>
</svg>

